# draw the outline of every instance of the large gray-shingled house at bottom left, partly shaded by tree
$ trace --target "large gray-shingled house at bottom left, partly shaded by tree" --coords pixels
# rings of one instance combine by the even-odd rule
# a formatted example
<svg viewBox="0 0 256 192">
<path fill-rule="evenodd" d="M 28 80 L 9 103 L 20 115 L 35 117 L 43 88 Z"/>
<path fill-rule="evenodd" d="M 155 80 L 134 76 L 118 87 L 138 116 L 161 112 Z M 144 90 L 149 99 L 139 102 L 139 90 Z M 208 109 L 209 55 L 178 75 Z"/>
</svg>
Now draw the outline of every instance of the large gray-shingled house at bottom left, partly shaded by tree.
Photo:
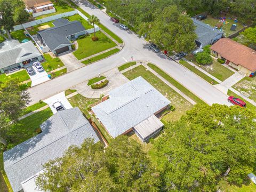
<svg viewBox="0 0 256 192">
<path fill-rule="evenodd" d="M 22 186 L 33 186 L 31 178 L 43 170 L 46 162 L 62 156 L 69 146 L 80 146 L 86 138 L 99 141 L 77 107 L 59 111 L 40 127 L 42 133 L 4 152 L 4 170 L 14 192 L 28 191 Z"/>
</svg>

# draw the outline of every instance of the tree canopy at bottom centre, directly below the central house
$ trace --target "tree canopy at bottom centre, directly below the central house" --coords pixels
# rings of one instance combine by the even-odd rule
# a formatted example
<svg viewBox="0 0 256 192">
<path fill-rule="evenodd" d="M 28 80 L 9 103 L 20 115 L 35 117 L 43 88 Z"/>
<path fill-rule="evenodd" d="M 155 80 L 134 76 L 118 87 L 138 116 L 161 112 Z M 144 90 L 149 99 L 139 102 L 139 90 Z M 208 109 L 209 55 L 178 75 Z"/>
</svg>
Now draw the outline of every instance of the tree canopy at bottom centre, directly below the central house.
<svg viewBox="0 0 256 192">
<path fill-rule="evenodd" d="M 47 191 L 158 191 L 161 183 L 140 144 L 124 136 L 106 149 L 86 139 L 44 168 L 36 183 Z"/>
</svg>

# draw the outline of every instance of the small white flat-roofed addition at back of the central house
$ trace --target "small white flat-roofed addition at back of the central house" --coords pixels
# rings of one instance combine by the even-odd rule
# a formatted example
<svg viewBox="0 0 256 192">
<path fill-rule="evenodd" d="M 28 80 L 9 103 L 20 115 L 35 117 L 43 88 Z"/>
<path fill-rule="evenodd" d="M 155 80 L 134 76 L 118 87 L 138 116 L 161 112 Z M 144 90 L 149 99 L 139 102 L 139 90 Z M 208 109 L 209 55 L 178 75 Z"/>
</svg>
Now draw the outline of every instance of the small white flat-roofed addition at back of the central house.
<svg viewBox="0 0 256 192">
<path fill-rule="evenodd" d="M 151 115 L 138 125 L 135 125 L 133 131 L 145 142 L 161 131 L 163 126 L 164 124 L 155 115 Z"/>
</svg>

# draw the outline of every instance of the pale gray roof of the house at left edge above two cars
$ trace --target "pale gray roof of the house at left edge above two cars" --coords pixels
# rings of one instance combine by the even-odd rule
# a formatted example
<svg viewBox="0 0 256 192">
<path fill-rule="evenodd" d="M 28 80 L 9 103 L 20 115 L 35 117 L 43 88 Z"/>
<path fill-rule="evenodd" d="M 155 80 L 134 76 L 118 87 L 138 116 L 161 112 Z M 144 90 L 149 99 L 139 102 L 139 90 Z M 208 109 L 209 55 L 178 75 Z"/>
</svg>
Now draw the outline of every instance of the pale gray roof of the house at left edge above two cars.
<svg viewBox="0 0 256 192">
<path fill-rule="evenodd" d="M 42 54 L 31 41 L 19 43 L 17 40 L 6 40 L 0 44 L 0 68 L 33 59 L 40 55 Z"/>
</svg>

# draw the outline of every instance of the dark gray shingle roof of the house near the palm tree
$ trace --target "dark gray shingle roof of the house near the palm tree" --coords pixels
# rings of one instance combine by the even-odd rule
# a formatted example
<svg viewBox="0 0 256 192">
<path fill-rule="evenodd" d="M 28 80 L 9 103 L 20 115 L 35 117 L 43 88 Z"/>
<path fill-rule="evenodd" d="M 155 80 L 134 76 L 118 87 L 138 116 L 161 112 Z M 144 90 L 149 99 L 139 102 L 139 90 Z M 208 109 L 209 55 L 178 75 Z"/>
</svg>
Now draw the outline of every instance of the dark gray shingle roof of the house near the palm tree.
<svg viewBox="0 0 256 192">
<path fill-rule="evenodd" d="M 60 45 L 71 45 L 67 36 L 85 31 L 84 26 L 79 21 L 71 21 L 61 26 L 55 26 L 38 31 L 38 34 L 44 39 L 46 45 L 51 51 L 57 49 Z"/>
</svg>

